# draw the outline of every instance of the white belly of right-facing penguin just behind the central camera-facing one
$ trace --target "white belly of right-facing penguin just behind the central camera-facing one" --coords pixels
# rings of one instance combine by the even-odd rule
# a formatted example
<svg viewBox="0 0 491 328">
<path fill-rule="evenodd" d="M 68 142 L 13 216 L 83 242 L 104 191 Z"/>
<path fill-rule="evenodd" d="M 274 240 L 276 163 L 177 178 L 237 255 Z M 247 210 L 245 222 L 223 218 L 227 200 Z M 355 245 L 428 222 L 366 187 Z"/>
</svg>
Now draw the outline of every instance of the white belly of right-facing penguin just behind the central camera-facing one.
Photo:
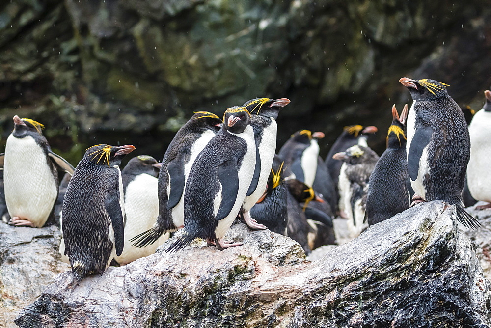
<svg viewBox="0 0 491 328">
<path fill-rule="evenodd" d="M 263 130 L 263 137 L 259 144 L 259 156 L 261 157 L 261 171 L 256 190 L 244 200 L 244 210 L 249 211 L 252 206 L 261 198 L 266 190 L 266 184 L 273 165 L 274 153 L 276 152 L 276 121 L 272 118 L 271 124 Z"/>
</svg>

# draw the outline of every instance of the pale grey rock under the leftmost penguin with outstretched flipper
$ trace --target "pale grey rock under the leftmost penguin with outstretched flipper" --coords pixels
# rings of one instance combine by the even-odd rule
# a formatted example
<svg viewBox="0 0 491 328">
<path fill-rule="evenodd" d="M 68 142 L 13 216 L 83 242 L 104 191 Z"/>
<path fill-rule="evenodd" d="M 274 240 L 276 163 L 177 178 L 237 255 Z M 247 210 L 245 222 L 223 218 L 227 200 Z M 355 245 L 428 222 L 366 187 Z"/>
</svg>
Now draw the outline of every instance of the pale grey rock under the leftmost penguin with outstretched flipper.
<svg viewBox="0 0 491 328">
<path fill-rule="evenodd" d="M 70 270 L 59 261 L 60 232 L 12 227 L 0 221 L 0 327 L 15 327 L 19 311 L 35 301 L 57 274 Z"/>
</svg>

